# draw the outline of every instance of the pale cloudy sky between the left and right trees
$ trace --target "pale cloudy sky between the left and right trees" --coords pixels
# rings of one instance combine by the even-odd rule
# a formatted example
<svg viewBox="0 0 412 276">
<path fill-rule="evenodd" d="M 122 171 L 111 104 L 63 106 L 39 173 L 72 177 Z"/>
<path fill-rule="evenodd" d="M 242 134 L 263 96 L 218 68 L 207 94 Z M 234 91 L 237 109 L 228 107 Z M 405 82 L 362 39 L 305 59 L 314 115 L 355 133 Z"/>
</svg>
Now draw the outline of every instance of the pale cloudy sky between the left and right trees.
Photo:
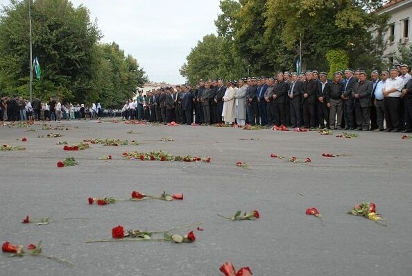
<svg viewBox="0 0 412 276">
<path fill-rule="evenodd" d="M 0 6 L 10 0 L 0 0 Z M 149 80 L 184 83 L 179 69 L 203 36 L 216 33 L 219 0 L 71 0 L 97 19 L 102 42 L 116 42 L 131 54 Z"/>
</svg>

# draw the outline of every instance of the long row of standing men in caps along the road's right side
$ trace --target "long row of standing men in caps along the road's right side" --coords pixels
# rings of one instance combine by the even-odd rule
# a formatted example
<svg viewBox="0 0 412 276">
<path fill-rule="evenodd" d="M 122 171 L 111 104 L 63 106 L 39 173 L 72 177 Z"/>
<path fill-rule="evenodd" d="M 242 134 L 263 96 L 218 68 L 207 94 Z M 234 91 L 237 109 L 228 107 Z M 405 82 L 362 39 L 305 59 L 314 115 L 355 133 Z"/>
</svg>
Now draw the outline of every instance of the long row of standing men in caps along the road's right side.
<svg viewBox="0 0 412 276">
<path fill-rule="evenodd" d="M 134 117 L 134 114 L 135 117 Z M 126 102 L 123 116 L 160 123 L 237 123 L 412 132 L 412 80 L 406 64 L 304 74 L 279 72 L 273 78 L 200 80 L 196 87 L 162 87 Z"/>
</svg>

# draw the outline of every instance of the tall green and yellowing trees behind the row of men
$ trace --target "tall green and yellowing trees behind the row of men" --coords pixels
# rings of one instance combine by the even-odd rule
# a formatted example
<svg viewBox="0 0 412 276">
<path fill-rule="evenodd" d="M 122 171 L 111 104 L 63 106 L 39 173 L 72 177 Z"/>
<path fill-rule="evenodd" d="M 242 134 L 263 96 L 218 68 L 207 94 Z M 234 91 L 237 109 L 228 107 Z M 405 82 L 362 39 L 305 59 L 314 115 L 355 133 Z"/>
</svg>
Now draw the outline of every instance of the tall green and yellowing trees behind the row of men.
<svg viewBox="0 0 412 276">
<path fill-rule="evenodd" d="M 332 71 L 326 55 L 334 50 L 349 57 L 349 66 L 379 68 L 384 42 L 379 35 L 372 37 L 368 30 L 385 31 L 388 17 L 372 12 L 382 2 L 221 0 L 221 14 L 215 25 L 218 37 L 230 41 L 234 47 L 232 58 L 243 60 L 253 76 L 293 70 L 300 42 L 302 69 Z M 204 58 L 207 60 L 207 52 Z M 185 66 L 186 71 L 196 76 L 193 60 Z"/>
</svg>

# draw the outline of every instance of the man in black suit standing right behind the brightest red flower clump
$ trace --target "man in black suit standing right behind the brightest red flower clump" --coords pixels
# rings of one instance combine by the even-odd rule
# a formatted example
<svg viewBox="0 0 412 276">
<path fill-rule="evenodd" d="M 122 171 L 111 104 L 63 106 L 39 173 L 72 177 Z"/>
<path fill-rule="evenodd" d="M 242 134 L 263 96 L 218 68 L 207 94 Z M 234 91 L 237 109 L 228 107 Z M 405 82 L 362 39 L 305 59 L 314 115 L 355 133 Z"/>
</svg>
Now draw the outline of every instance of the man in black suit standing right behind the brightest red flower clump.
<svg viewBox="0 0 412 276">
<path fill-rule="evenodd" d="M 277 73 L 277 84 L 270 94 L 272 98 L 271 112 L 275 126 L 286 126 L 286 94 L 289 84 L 283 79 L 283 73 Z"/>
</svg>

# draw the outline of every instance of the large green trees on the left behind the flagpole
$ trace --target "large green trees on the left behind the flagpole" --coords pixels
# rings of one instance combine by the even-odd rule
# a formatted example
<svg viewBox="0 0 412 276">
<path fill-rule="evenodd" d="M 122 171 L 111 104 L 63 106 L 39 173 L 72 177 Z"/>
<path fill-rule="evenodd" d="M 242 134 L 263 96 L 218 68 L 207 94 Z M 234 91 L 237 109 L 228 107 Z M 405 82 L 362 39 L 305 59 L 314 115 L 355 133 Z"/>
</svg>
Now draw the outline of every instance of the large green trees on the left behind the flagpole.
<svg viewBox="0 0 412 276">
<path fill-rule="evenodd" d="M 146 78 L 131 56 L 117 44 L 100 44 L 102 35 L 89 10 L 68 0 L 31 3 L 33 56 L 42 78 L 33 81 L 33 96 L 62 101 L 119 105 L 135 94 Z M 0 16 L 0 89 L 3 94 L 28 97 L 28 0 L 11 0 Z M 121 99 L 119 99 L 121 98 Z"/>
</svg>

